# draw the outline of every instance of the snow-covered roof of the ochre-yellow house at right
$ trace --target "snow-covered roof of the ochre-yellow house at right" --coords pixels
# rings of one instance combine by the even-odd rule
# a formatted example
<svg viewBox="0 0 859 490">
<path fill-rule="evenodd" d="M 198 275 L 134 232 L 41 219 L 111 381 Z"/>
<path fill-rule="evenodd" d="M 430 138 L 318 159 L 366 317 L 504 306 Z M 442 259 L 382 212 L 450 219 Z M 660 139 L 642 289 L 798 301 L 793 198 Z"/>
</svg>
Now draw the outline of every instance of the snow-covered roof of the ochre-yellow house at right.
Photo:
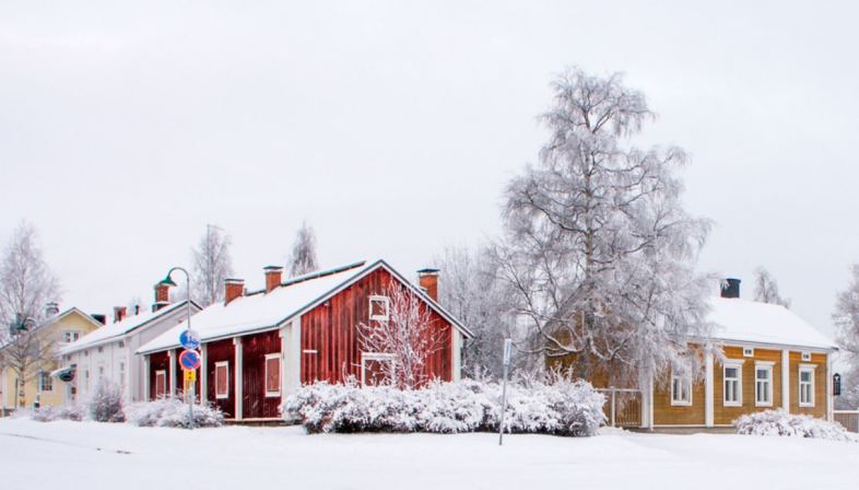
<svg viewBox="0 0 859 490">
<path fill-rule="evenodd" d="M 725 341 L 837 349 L 837 345 L 790 310 L 741 299 L 713 298 L 713 337 Z"/>
</svg>

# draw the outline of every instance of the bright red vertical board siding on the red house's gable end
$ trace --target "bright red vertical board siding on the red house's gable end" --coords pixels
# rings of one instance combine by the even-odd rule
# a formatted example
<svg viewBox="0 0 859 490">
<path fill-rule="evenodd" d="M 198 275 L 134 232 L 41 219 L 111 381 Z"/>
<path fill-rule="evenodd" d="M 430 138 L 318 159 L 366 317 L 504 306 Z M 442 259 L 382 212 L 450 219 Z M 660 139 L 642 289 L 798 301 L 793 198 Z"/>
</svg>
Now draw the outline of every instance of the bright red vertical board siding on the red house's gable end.
<svg viewBox="0 0 859 490">
<path fill-rule="evenodd" d="M 377 269 L 302 316 L 302 383 L 342 383 L 348 375 L 361 380 L 357 325 L 369 318 L 369 296 L 381 294 L 392 280 L 386 270 Z M 428 310 L 425 304 L 423 307 Z M 437 313 L 429 313 L 433 325 L 442 330 L 444 347 L 428 360 L 426 374 L 450 381 L 452 326 Z"/>
</svg>

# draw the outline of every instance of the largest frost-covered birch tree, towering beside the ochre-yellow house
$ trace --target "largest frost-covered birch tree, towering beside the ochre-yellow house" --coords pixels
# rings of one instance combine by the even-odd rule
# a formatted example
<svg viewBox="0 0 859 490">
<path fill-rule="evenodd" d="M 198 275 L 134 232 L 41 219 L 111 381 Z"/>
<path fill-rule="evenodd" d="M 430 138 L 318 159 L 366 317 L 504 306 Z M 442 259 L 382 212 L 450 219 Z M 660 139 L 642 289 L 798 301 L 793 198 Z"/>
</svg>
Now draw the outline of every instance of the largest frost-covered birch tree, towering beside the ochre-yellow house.
<svg viewBox="0 0 859 490">
<path fill-rule="evenodd" d="M 623 385 L 687 368 L 687 340 L 708 332 L 694 266 L 709 222 L 682 207 L 686 153 L 632 144 L 654 113 L 620 74 L 569 69 L 551 88 L 549 140 L 506 188 L 495 248 L 520 320 L 581 376 L 610 368 Z"/>
</svg>

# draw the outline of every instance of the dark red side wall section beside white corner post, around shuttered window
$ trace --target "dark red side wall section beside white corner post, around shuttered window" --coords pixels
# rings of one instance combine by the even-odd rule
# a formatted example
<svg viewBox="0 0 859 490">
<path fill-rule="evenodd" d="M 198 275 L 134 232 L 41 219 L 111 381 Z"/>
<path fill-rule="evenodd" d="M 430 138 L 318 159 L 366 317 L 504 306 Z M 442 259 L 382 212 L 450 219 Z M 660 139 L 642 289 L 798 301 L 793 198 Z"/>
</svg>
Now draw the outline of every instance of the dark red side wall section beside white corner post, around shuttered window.
<svg viewBox="0 0 859 490">
<path fill-rule="evenodd" d="M 242 417 L 276 418 L 281 398 L 266 396 L 266 354 L 281 351 L 279 330 L 242 337 Z"/>
</svg>

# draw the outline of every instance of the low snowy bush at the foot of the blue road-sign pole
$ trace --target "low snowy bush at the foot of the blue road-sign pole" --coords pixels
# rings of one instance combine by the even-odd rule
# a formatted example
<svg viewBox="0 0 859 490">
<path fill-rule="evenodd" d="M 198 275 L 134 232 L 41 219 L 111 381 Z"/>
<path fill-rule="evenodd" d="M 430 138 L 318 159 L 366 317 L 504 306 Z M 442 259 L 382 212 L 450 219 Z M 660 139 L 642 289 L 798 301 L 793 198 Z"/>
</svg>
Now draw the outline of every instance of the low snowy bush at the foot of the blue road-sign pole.
<svg viewBox="0 0 859 490">
<path fill-rule="evenodd" d="M 133 404 L 126 409 L 129 422 L 140 427 L 188 427 L 188 404 L 177 398 Z M 193 405 L 193 427 L 220 427 L 224 413 L 209 404 Z"/>
</svg>

